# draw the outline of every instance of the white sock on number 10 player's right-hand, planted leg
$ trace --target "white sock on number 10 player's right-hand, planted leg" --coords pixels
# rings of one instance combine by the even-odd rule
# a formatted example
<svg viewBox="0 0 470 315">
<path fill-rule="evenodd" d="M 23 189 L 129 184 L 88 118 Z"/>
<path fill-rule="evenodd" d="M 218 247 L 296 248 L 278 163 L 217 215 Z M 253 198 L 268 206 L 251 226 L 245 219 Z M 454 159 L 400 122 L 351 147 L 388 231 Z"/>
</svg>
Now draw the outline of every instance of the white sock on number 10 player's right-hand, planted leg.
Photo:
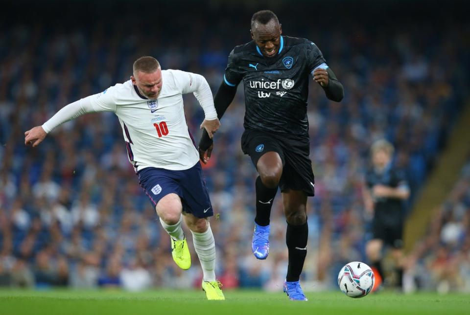
<svg viewBox="0 0 470 315">
<path fill-rule="evenodd" d="M 215 241 L 211 225 L 203 233 L 191 231 L 194 249 L 201 262 L 204 281 L 215 281 Z"/>
</svg>

